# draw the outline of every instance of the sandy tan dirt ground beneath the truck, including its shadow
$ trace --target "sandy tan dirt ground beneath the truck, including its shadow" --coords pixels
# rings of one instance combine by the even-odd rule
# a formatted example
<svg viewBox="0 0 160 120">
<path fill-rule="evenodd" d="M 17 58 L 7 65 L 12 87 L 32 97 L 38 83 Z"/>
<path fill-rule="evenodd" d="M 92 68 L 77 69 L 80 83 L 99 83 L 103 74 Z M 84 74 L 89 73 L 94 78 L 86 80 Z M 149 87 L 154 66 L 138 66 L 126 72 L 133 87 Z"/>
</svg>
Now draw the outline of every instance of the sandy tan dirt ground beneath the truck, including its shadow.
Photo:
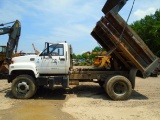
<svg viewBox="0 0 160 120">
<path fill-rule="evenodd" d="M 72 89 L 43 88 L 29 100 L 15 99 L 0 80 L 0 120 L 159 120 L 160 76 L 136 78 L 127 101 L 112 101 L 96 83 Z"/>
</svg>

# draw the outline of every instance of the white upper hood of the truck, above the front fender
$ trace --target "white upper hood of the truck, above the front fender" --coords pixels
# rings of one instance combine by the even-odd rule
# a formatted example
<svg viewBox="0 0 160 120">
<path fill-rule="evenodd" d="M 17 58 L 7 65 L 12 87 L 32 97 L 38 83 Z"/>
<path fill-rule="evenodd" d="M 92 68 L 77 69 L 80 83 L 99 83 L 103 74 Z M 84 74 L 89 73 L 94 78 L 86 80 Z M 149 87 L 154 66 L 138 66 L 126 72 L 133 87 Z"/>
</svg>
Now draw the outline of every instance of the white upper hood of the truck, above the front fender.
<svg viewBox="0 0 160 120">
<path fill-rule="evenodd" d="M 12 58 L 13 63 L 16 62 L 35 62 L 37 55 L 26 55 Z"/>
</svg>

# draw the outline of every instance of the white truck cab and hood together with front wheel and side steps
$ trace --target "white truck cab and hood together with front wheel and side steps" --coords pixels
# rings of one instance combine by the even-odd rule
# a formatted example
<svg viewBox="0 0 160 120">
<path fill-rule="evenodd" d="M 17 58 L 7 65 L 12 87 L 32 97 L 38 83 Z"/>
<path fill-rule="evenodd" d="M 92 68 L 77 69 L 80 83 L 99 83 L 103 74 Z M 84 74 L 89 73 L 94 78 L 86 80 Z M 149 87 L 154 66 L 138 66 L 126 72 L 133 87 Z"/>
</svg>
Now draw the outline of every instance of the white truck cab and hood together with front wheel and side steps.
<svg viewBox="0 0 160 120">
<path fill-rule="evenodd" d="M 69 86 L 72 48 L 66 42 L 50 44 L 38 55 L 19 56 L 9 66 L 8 82 L 16 98 L 32 97 L 38 86 Z"/>
</svg>

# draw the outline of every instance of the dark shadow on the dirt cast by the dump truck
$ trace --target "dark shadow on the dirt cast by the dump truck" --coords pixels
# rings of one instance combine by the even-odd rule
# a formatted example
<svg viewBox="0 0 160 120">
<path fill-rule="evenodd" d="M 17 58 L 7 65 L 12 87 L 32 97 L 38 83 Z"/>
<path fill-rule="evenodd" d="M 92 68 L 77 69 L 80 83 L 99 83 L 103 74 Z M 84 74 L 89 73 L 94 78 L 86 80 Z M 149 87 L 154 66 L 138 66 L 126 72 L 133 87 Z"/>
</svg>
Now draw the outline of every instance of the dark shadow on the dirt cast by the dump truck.
<svg viewBox="0 0 160 120">
<path fill-rule="evenodd" d="M 0 90 L 5 92 L 5 97 L 14 98 L 10 88 Z M 49 89 L 46 87 L 39 88 L 32 99 L 45 99 L 45 100 L 66 100 L 67 95 L 76 95 L 77 97 L 87 97 L 93 99 L 111 100 L 105 93 L 104 89 L 99 85 L 79 85 L 72 89 L 64 89 L 58 87 L 55 89 Z M 145 95 L 133 90 L 129 99 L 133 100 L 145 100 L 148 99 Z"/>
</svg>

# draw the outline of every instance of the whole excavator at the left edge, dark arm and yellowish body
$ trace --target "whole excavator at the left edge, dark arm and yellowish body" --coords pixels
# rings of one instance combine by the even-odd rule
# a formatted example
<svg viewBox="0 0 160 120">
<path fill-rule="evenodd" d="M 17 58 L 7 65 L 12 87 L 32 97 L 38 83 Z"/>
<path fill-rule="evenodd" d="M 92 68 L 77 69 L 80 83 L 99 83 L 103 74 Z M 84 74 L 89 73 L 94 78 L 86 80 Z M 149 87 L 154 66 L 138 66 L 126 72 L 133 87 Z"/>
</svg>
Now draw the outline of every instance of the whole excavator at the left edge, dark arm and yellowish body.
<svg viewBox="0 0 160 120">
<path fill-rule="evenodd" d="M 8 24 L 12 24 L 12 26 L 6 27 Z M 9 35 L 7 46 L 0 46 L 0 78 L 3 78 L 5 74 L 8 73 L 8 66 L 11 63 L 12 57 L 18 56 L 16 53 L 21 34 L 21 24 L 19 20 L 16 20 L 5 24 L 0 24 L 0 26 L 4 26 L 0 28 L 0 35 Z"/>
</svg>

